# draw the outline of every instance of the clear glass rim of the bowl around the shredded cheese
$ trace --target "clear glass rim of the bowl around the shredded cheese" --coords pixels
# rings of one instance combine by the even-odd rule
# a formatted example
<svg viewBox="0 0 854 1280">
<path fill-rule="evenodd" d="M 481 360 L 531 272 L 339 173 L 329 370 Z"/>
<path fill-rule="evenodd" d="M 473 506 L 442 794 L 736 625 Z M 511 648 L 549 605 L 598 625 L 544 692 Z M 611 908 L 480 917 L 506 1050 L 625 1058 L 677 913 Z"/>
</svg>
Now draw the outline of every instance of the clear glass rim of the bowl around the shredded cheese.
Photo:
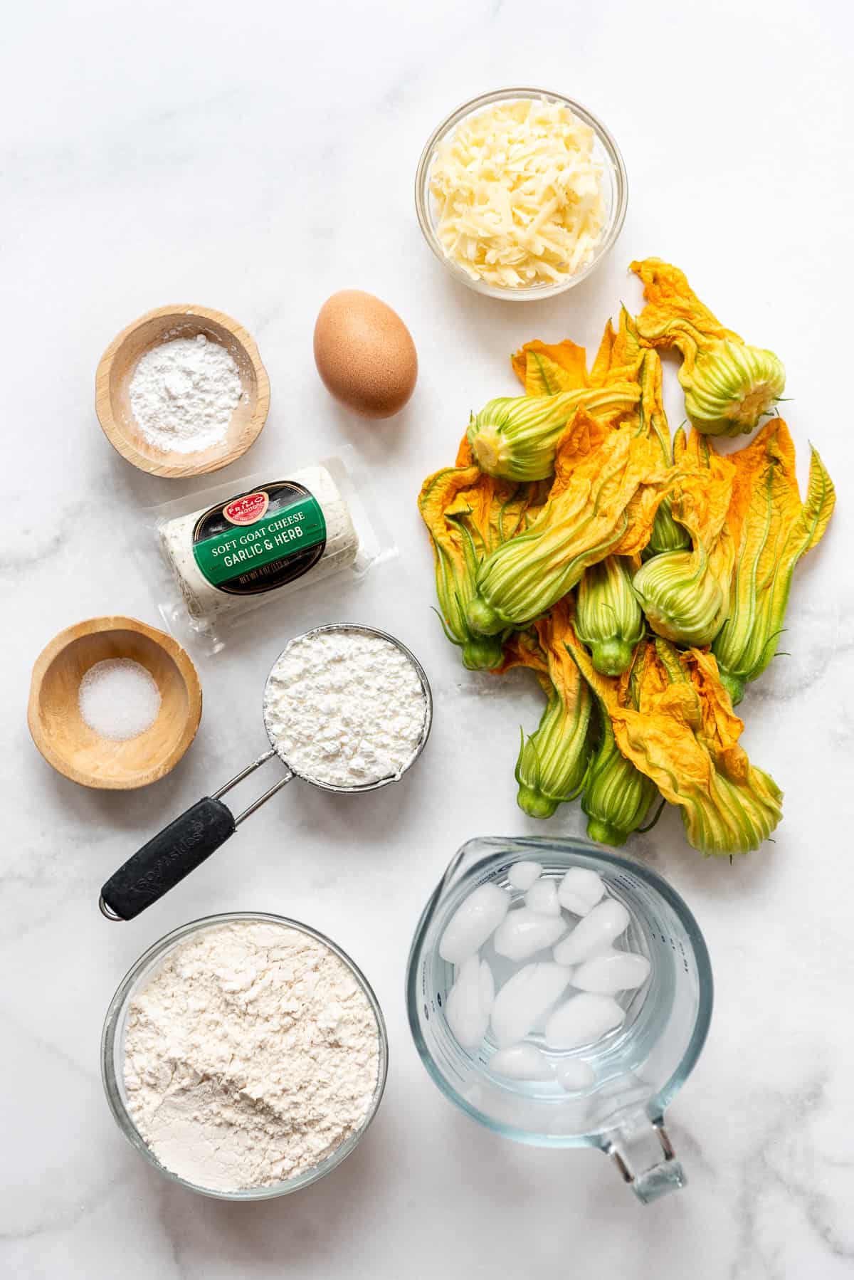
<svg viewBox="0 0 854 1280">
<path fill-rule="evenodd" d="M 597 243 L 593 257 L 588 265 L 577 271 L 575 275 L 570 275 L 566 280 L 556 282 L 554 284 L 534 284 L 524 288 L 501 288 L 495 284 L 489 284 L 485 280 L 472 280 L 463 270 L 461 270 L 455 262 L 446 257 L 442 244 L 438 241 L 435 230 L 433 229 L 433 219 L 430 216 L 430 165 L 433 163 L 433 152 L 437 143 L 447 134 L 451 129 L 462 120 L 466 115 L 471 115 L 480 108 L 489 106 L 490 102 L 508 101 L 517 97 L 530 97 L 539 99 L 544 97 L 553 102 L 560 102 L 562 106 L 568 106 L 575 115 L 579 116 L 585 124 L 588 124 L 604 147 L 608 154 L 613 169 L 613 182 L 615 182 L 615 201 L 611 210 L 611 219 L 604 228 L 599 242 Z M 554 90 L 547 88 L 497 88 L 492 90 L 489 93 L 480 93 L 478 97 L 470 99 L 458 106 L 451 115 L 446 116 L 440 124 L 433 131 L 428 142 L 421 152 L 419 160 L 419 166 L 415 173 L 415 210 L 419 219 L 419 225 L 424 234 L 425 241 L 443 264 L 444 268 L 453 275 L 456 280 L 466 284 L 475 293 L 487 294 L 490 298 L 503 298 L 508 302 L 533 302 L 536 298 L 553 298 L 558 293 L 563 293 L 566 289 L 574 288 L 574 285 L 580 284 L 585 280 L 592 271 L 597 269 L 602 259 L 612 248 L 615 241 L 617 239 L 620 232 L 622 230 L 622 224 L 626 219 L 626 207 L 629 204 L 629 177 L 626 174 L 626 166 L 620 152 L 620 148 L 613 138 L 611 131 L 599 120 L 598 116 L 593 114 L 581 102 L 576 102 L 575 99 L 566 97 L 563 93 L 557 93 Z"/>
</svg>

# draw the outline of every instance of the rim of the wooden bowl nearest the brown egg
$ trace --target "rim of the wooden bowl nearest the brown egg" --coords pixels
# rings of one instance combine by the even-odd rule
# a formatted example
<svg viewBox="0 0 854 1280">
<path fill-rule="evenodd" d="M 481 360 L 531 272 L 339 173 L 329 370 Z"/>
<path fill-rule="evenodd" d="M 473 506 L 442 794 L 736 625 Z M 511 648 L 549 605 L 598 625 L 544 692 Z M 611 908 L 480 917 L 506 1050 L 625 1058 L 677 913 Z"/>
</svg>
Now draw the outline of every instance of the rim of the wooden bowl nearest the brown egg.
<svg viewBox="0 0 854 1280">
<path fill-rule="evenodd" d="M 255 408 L 252 416 L 250 417 L 243 436 L 241 440 L 241 447 L 234 448 L 229 442 L 220 440 L 219 444 L 213 445 L 210 449 L 202 449 L 200 453 L 188 454 L 188 461 L 182 462 L 157 462 L 155 458 L 150 458 L 146 453 L 141 453 L 134 445 L 133 440 L 128 439 L 124 434 L 124 428 L 115 419 L 113 413 L 113 401 L 110 397 L 110 376 L 113 372 L 113 362 L 129 337 L 136 333 L 143 324 L 150 320 L 165 320 L 169 316 L 174 316 L 175 320 L 184 319 L 198 319 L 198 320 L 213 320 L 215 324 L 222 325 L 230 333 L 234 342 L 246 353 L 252 370 L 255 372 L 255 383 L 257 387 L 257 396 L 255 402 Z M 105 436 L 122 457 L 131 462 L 140 471 L 146 471 L 152 476 L 165 476 L 169 480 L 181 480 L 186 476 L 202 476 L 209 471 L 219 471 L 220 467 L 227 467 L 232 462 L 237 462 L 242 458 L 246 451 L 255 444 L 256 439 L 261 434 L 261 429 L 266 422 L 266 416 L 270 411 L 270 379 L 268 376 L 266 369 L 261 362 L 261 356 L 257 349 L 257 344 L 250 332 L 238 324 L 232 316 L 225 315 L 224 311 L 218 311 L 215 307 L 201 307 L 195 303 L 173 303 L 165 307 L 155 307 L 152 311 L 146 311 L 145 315 L 138 316 L 136 320 L 125 325 L 120 333 L 115 335 L 110 346 L 106 348 L 104 355 L 97 362 L 97 369 L 95 370 L 95 412 L 97 413 L 97 420 L 101 424 L 101 430 Z M 193 462 L 189 458 L 195 458 Z"/>
</svg>

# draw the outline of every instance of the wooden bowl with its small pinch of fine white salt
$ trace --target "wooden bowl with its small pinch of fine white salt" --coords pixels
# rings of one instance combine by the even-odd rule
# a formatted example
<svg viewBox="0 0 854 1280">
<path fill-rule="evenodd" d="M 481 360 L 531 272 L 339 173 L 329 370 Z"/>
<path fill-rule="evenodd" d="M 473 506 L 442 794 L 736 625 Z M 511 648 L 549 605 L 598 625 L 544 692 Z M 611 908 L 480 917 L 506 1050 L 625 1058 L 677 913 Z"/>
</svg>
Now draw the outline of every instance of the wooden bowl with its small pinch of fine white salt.
<svg viewBox="0 0 854 1280">
<path fill-rule="evenodd" d="M 90 618 L 36 659 L 27 722 L 59 773 L 128 791 L 163 778 L 196 736 L 201 685 L 177 640 L 136 618 Z"/>
</svg>

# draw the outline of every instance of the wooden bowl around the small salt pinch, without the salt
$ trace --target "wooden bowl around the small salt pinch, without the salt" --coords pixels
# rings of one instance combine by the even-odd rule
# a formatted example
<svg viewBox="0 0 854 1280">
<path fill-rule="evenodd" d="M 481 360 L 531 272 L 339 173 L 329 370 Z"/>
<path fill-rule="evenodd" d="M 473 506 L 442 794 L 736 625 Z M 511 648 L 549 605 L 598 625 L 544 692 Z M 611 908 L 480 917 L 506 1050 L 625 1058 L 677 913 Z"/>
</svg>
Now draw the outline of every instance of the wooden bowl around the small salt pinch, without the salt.
<svg viewBox="0 0 854 1280">
<path fill-rule="evenodd" d="M 85 673 L 105 658 L 132 658 L 160 689 L 160 712 L 145 733 L 114 742 L 79 713 Z M 49 764 L 85 787 L 129 791 L 175 767 L 198 728 L 201 685 L 177 640 L 136 618 L 90 618 L 55 636 L 36 659 L 27 722 Z"/>
</svg>

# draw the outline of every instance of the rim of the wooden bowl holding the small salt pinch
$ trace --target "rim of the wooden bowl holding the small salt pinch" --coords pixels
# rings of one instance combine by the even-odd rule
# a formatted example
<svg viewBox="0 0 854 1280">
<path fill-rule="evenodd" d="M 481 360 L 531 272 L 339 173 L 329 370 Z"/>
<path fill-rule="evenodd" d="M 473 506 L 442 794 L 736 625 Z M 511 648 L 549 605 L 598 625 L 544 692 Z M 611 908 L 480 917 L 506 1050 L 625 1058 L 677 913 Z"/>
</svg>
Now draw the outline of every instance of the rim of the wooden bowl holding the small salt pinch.
<svg viewBox="0 0 854 1280">
<path fill-rule="evenodd" d="M 101 631 L 136 631 L 140 635 L 146 636 L 160 649 L 163 649 L 174 662 L 178 668 L 178 673 L 184 682 L 184 689 L 187 690 L 187 721 L 182 730 L 182 733 L 175 742 L 174 748 L 169 754 L 160 760 L 157 764 L 150 765 L 147 769 L 141 769 L 138 777 L 133 781 L 128 780 L 95 780 L 90 773 L 85 773 L 76 768 L 70 760 L 59 751 L 54 750 L 50 737 L 42 731 L 41 718 L 38 714 L 38 703 L 41 698 L 41 689 L 45 681 L 45 676 L 54 663 L 54 660 L 67 649 L 70 644 L 77 640 L 82 640 L 83 636 L 97 635 Z M 29 727 L 29 733 L 37 749 L 47 760 L 47 763 L 61 773 L 63 777 L 69 778 L 72 782 L 77 782 L 82 787 L 91 787 L 95 791 L 134 791 L 137 787 L 147 787 L 151 782 L 157 782 L 170 773 L 178 760 L 183 759 L 189 748 L 189 744 L 196 737 L 198 731 L 198 724 L 201 721 L 201 681 L 198 680 L 198 672 L 193 666 L 193 662 L 183 648 L 178 644 L 174 636 L 170 636 L 166 631 L 160 631 L 157 627 L 149 626 L 147 622 L 141 622 L 138 618 L 128 618 L 123 614 L 109 614 L 100 618 L 86 618 L 83 622 L 77 622 L 70 627 L 65 627 L 54 636 L 49 644 L 45 645 L 42 652 L 36 658 L 32 668 L 32 677 L 29 681 L 29 700 L 27 703 L 27 724 Z"/>
</svg>

